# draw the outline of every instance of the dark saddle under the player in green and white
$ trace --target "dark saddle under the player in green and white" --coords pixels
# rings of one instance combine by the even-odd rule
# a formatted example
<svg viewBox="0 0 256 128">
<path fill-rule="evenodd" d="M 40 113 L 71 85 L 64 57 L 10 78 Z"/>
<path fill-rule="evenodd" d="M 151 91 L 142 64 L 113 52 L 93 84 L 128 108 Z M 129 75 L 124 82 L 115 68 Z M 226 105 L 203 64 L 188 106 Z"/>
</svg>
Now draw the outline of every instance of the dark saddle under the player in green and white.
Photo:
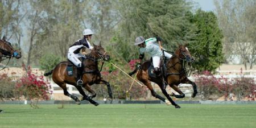
<svg viewBox="0 0 256 128">
<path fill-rule="evenodd" d="M 166 63 L 167 63 L 167 59 L 166 59 Z M 164 60 L 160 59 L 160 70 L 161 73 L 164 77 L 164 79 L 166 79 L 166 74 L 167 74 L 167 69 L 166 69 L 166 64 L 164 64 Z M 155 72 L 154 72 L 154 65 L 153 65 L 153 61 L 152 61 L 152 57 L 150 59 L 150 67 L 148 68 L 148 76 L 156 79 L 158 78 L 158 76 L 156 76 Z"/>
</svg>

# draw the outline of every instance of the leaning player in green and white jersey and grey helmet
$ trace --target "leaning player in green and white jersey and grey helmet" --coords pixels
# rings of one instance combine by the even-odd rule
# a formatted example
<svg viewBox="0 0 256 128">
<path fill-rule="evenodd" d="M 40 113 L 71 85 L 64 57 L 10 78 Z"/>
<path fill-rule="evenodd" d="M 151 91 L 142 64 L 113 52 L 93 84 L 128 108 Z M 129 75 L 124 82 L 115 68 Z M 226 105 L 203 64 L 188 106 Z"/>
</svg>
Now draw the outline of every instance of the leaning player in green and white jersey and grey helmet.
<svg viewBox="0 0 256 128">
<path fill-rule="evenodd" d="M 135 46 L 139 46 L 139 60 L 142 61 L 144 53 L 148 52 L 152 57 L 154 71 L 156 76 L 161 75 L 160 71 L 160 59 L 163 56 L 162 40 L 159 37 L 144 39 L 143 36 L 139 36 L 135 39 Z M 171 58 L 172 55 L 168 52 L 164 52 L 164 56 Z"/>
</svg>

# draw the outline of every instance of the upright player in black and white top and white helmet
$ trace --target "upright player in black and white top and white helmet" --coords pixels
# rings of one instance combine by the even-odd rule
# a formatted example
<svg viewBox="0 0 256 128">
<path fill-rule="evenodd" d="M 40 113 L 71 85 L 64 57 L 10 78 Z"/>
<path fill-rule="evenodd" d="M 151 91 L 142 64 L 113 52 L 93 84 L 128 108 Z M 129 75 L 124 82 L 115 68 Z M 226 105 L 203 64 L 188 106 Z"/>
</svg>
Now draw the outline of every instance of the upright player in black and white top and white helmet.
<svg viewBox="0 0 256 128">
<path fill-rule="evenodd" d="M 90 45 L 89 40 L 92 38 L 94 32 L 90 29 L 85 29 L 82 34 L 84 35 L 84 37 L 77 40 L 72 46 L 68 48 L 68 60 L 72 61 L 72 63 L 75 64 L 77 67 L 77 85 L 80 86 L 83 83 L 81 80 L 83 68 L 79 57 L 84 57 L 84 55 L 80 53 L 80 50 L 85 47 L 93 49 L 93 47 Z"/>
</svg>

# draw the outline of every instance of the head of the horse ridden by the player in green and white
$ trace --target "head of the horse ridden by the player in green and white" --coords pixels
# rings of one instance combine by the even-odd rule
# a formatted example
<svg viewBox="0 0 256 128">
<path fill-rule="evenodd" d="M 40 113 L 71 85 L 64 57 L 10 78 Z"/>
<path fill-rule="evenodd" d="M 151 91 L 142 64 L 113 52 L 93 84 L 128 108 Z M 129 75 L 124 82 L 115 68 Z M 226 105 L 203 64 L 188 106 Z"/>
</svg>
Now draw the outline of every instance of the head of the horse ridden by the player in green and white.
<svg viewBox="0 0 256 128">
<path fill-rule="evenodd" d="M 195 60 L 188 51 L 188 47 L 184 45 L 179 45 L 179 48 L 176 49 L 175 54 L 179 56 L 180 59 L 193 63 Z"/>
</svg>

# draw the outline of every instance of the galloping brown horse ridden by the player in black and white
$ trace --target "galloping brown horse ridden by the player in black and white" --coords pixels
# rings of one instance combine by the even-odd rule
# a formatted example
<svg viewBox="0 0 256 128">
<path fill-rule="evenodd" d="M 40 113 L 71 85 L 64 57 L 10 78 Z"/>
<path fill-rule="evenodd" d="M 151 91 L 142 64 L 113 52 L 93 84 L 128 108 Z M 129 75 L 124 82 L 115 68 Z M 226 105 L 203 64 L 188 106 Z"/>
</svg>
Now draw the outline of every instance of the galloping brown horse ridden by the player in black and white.
<svg viewBox="0 0 256 128">
<path fill-rule="evenodd" d="M 75 65 L 73 65 L 73 72 L 74 72 L 73 74 L 75 74 L 75 76 L 68 76 L 67 74 L 67 66 L 69 63 L 68 61 L 63 61 L 57 64 L 52 71 L 48 73 L 44 73 L 44 76 L 48 76 L 52 74 L 52 80 L 63 89 L 64 95 L 71 97 L 73 100 L 76 101 L 77 104 L 80 104 L 79 98 L 68 93 L 66 84 L 74 85 L 77 88 L 77 90 L 79 90 L 79 93 L 83 96 L 82 100 L 88 100 L 91 104 L 95 106 L 97 106 L 98 103 L 92 100 L 92 98 L 96 97 L 96 93 L 94 92 L 94 90 L 90 88 L 90 86 L 93 84 L 107 85 L 109 97 L 112 98 L 112 90 L 110 88 L 110 84 L 109 82 L 102 80 L 101 73 L 98 69 L 98 61 L 99 60 L 108 61 L 110 59 L 110 56 L 106 54 L 104 48 L 102 48 L 101 46 L 95 46 L 94 44 L 93 46 L 94 48 L 92 49 L 92 52 L 90 52 L 89 55 L 86 55 L 85 58 L 82 57 L 82 65 L 83 65 L 82 86 L 77 86 L 77 83 L 76 83 L 77 68 L 75 67 Z M 86 96 L 84 90 L 82 90 L 82 87 L 88 90 L 90 93 L 92 93 L 92 96 Z"/>
</svg>

